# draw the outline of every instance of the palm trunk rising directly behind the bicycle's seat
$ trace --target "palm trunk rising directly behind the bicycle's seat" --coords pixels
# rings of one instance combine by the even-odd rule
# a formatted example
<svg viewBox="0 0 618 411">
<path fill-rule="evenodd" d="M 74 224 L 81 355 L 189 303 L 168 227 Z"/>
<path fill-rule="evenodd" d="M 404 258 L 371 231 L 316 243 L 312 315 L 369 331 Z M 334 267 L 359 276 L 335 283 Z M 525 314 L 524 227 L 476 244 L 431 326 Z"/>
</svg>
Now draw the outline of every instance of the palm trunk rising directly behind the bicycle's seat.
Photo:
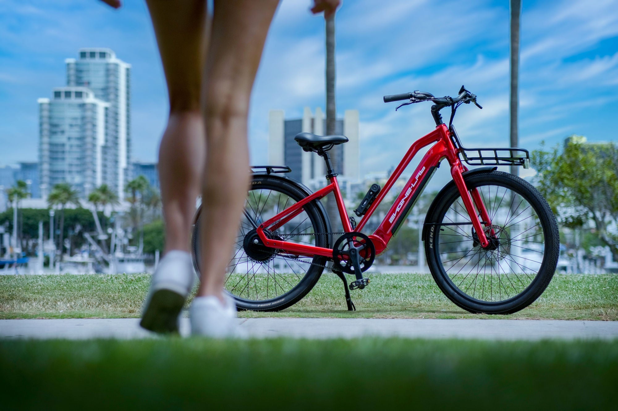
<svg viewBox="0 0 618 411">
<path fill-rule="evenodd" d="M 336 127 L 337 107 L 335 102 L 335 15 L 326 19 L 326 135 L 333 135 Z M 331 163 L 333 170 L 339 170 L 339 156 L 336 147 L 332 149 Z M 326 212 L 332 223 L 332 229 L 339 231 L 339 210 L 335 197 L 326 203 Z"/>
</svg>

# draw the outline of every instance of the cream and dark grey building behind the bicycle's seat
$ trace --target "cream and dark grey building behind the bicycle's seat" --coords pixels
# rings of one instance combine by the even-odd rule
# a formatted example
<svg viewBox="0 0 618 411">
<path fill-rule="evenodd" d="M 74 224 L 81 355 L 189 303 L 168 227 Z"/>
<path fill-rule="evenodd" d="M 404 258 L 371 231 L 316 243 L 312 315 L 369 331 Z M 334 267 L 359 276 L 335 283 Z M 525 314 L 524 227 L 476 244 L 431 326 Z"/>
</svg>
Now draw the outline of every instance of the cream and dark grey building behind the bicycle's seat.
<svg viewBox="0 0 618 411">
<path fill-rule="evenodd" d="M 324 159 L 315 153 L 305 152 L 294 141 L 298 133 L 309 132 L 324 135 L 326 116 L 320 107 L 311 113 L 305 107 L 303 117 L 286 120 L 283 110 L 270 110 L 268 127 L 268 164 L 287 165 L 292 168 L 289 174 L 294 180 L 305 185 L 313 181 L 323 183 L 326 170 Z M 329 154 L 337 157 L 339 167 L 336 173 L 345 180 L 356 182 L 360 179 L 360 151 L 358 146 L 358 110 L 345 110 L 344 118 L 336 120 L 335 134 L 346 136 L 349 141 L 332 147 Z"/>
</svg>

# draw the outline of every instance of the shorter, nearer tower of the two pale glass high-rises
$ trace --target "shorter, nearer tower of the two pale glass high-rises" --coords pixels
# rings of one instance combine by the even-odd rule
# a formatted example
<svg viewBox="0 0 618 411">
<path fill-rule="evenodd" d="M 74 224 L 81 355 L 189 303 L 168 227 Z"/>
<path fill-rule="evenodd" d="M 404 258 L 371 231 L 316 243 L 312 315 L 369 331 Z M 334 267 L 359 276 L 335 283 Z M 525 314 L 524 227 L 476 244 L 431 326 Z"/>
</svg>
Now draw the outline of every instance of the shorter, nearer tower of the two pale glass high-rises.
<svg viewBox="0 0 618 411">
<path fill-rule="evenodd" d="M 106 117 L 110 104 L 85 87 L 53 89 L 38 99 L 39 172 L 46 198 L 58 183 L 69 183 L 82 196 L 103 183 Z"/>
</svg>

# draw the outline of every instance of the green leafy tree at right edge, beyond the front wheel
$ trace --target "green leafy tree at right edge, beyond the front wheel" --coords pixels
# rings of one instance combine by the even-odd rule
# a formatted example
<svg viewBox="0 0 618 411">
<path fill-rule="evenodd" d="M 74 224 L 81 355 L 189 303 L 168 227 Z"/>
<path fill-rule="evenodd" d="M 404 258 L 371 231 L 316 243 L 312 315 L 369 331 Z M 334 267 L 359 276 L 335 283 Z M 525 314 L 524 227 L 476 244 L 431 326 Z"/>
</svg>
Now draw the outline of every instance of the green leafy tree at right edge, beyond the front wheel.
<svg viewBox="0 0 618 411">
<path fill-rule="evenodd" d="M 618 260 L 618 147 L 590 144 L 571 136 L 564 147 L 532 153 L 536 186 L 560 222 L 570 227 L 592 222 L 595 234 Z M 613 225 L 612 225 L 613 223 Z"/>
</svg>

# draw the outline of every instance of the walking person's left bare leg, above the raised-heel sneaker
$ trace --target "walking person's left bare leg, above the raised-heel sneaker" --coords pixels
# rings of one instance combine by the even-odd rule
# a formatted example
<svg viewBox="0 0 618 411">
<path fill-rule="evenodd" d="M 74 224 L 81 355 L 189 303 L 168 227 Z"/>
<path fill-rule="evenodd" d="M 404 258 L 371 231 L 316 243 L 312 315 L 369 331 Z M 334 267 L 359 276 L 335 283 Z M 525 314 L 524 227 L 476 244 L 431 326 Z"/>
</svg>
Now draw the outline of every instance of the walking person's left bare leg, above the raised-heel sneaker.
<svg viewBox="0 0 618 411">
<path fill-rule="evenodd" d="M 169 91 L 169 120 L 159 147 L 165 252 L 189 251 L 206 138 L 200 110 L 206 1 L 147 0 Z"/>
</svg>

